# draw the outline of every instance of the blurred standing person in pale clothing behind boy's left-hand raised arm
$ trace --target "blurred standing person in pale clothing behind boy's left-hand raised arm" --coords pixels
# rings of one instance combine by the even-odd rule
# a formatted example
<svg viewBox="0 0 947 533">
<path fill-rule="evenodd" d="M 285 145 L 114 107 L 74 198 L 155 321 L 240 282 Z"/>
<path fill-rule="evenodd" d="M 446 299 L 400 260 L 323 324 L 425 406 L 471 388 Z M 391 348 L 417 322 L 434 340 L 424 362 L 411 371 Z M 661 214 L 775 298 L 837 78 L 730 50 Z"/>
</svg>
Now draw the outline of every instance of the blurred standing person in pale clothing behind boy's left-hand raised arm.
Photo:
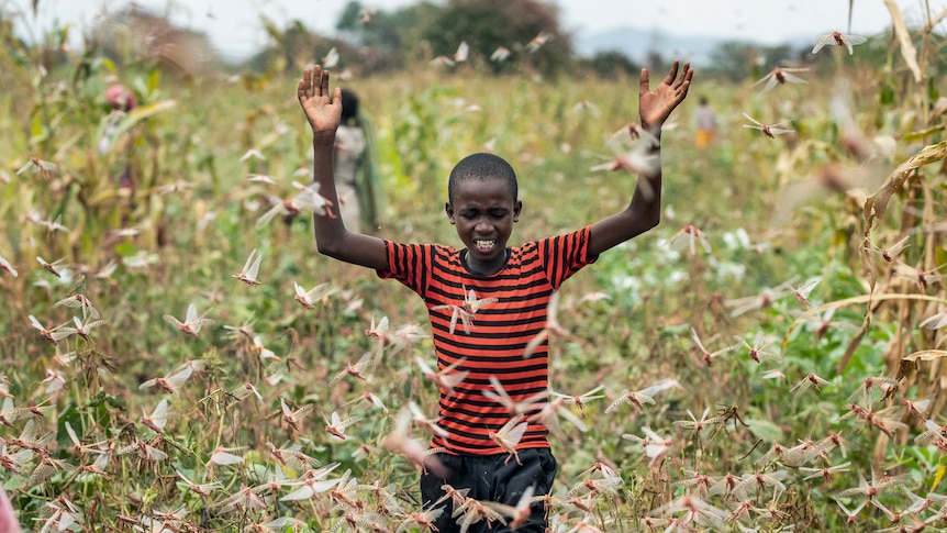
<svg viewBox="0 0 947 533">
<path fill-rule="evenodd" d="M 381 188 L 375 169 L 374 143 L 358 95 L 342 90 L 342 121 L 335 134 L 335 191 L 345 226 L 361 233 L 379 226 Z"/>
</svg>

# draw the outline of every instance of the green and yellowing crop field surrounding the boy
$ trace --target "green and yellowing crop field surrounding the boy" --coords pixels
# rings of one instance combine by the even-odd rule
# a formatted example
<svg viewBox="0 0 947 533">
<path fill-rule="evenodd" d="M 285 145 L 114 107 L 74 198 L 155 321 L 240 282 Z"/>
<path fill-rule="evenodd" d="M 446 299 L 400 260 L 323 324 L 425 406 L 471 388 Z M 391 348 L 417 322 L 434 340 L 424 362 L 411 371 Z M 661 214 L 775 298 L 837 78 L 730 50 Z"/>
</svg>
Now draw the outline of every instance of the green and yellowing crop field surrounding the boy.
<svg viewBox="0 0 947 533">
<path fill-rule="evenodd" d="M 870 68 L 826 46 L 766 91 L 697 71 L 660 225 L 559 292 L 552 531 L 947 528 L 947 99 L 917 38 Z M 312 179 L 299 74 L 41 60 L 0 57 L 0 484 L 23 529 L 428 531 L 423 302 L 321 256 L 310 213 L 266 215 Z M 459 246 L 447 175 L 484 149 L 519 175 L 512 245 L 627 206 L 636 176 L 592 168 L 626 149 L 637 78 L 468 67 L 344 82 L 376 135 L 374 234 Z M 252 253 L 258 285 L 235 278 Z M 476 509 L 457 519 L 508 520 Z"/>
</svg>

